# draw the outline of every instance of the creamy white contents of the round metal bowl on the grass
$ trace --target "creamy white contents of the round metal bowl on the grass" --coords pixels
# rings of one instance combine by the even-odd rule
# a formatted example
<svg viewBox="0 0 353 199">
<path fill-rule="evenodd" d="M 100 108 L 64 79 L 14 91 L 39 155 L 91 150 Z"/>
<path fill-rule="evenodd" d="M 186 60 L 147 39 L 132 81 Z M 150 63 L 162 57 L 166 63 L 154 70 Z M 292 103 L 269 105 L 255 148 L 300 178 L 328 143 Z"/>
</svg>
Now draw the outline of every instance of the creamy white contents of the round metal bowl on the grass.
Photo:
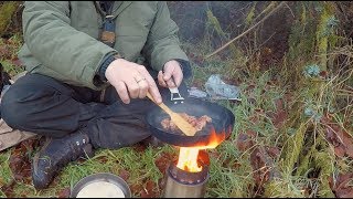
<svg viewBox="0 0 353 199">
<path fill-rule="evenodd" d="M 76 198 L 125 198 L 122 190 L 107 181 L 96 181 L 85 186 Z"/>
</svg>

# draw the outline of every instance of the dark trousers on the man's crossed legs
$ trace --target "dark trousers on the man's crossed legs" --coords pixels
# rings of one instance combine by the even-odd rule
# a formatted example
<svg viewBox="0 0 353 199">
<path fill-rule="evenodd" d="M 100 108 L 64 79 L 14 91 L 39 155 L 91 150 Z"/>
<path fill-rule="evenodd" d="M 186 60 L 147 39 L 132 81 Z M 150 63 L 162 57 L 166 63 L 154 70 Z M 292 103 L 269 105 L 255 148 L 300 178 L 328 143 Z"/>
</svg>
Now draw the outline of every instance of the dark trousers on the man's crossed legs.
<svg viewBox="0 0 353 199">
<path fill-rule="evenodd" d="M 168 104 L 169 90 L 159 90 Z M 184 83 L 180 92 L 186 96 Z M 151 135 L 145 117 L 153 107 L 157 105 L 147 97 L 124 104 L 113 86 L 94 91 L 40 74 L 26 74 L 4 94 L 1 116 L 15 129 L 56 138 L 86 133 L 95 148 L 120 148 Z"/>
</svg>

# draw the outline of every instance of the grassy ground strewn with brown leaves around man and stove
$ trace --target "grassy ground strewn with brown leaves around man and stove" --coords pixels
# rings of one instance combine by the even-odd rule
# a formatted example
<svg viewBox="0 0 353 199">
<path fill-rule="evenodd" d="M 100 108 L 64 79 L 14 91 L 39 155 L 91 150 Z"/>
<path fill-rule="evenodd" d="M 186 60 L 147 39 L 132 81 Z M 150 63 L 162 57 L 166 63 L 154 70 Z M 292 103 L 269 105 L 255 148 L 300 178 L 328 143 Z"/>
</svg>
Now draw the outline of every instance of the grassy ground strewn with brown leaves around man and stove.
<svg viewBox="0 0 353 199">
<path fill-rule="evenodd" d="M 17 59 L 21 44 L 18 34 L 0 40 L 0 61 L 11 76 L 23 71 Z M 205 60 L 207 42 L 182 44 L 194 72 L 189 86 L 205 91 L 210 75 L 221 74 L 240 91 L 240 101 L 218 102 L 236 119 L 231 137 L 207 149 L 205 197 L 353 197 L 353 45 L 331 52 L 346 60 L 328 72 L 290 54 L 268 62 L 271 49 Z M 170 145 L 100 149 L 71 163 L 47 189 L 35 190 L 30 165 L 38 149 L 31 139 L 0 153 L 0 197 L 66 198 L 85 176 L 111 172 L 128 182 L 133 197 L 158 198 L 165 168 L 179 153 Z"/>
</svg>

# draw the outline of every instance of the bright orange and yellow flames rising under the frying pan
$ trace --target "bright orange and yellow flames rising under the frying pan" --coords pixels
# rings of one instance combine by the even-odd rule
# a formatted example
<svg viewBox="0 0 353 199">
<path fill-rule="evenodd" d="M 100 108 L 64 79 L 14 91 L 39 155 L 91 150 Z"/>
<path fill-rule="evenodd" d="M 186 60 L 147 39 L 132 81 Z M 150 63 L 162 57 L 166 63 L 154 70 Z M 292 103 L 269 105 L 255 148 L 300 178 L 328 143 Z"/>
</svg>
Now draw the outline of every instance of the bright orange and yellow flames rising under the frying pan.
<svg viewBox="0 0 353 199">
<path fill-rule="evenodd" d="M 197 164 L 199 150 L 215 148 L 225 139 L 225 133 L 216 133 L 214 129 L 211 132 L 208 140 L 205 143 L 196 144 L 193 147 L 180 147 L 179 158 L 176 167 L 190 171 L 199 172 L 202 170 L 202 166 Z"/>
</svg>

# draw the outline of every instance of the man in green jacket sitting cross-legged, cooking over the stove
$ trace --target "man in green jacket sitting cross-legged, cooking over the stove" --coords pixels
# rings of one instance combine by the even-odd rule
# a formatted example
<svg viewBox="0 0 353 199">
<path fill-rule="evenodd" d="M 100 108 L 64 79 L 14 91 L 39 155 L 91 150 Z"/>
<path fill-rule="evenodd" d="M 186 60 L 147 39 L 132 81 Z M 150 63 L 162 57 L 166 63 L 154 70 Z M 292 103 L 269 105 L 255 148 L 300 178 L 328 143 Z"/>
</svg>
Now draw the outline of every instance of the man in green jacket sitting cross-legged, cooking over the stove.
<svg viewBox="0 0 353 199">
<path fill-rule="evenodd" d="M 145 121 L 168 87 L 186 94 L 190 64 L 165 2 L 26 1 L 28 74 L 6 93 L 1 115 L 12 128 L 45 136 L 32 161 L 33 185 L 97 148 L 151 137 Z"/>
</svg>

